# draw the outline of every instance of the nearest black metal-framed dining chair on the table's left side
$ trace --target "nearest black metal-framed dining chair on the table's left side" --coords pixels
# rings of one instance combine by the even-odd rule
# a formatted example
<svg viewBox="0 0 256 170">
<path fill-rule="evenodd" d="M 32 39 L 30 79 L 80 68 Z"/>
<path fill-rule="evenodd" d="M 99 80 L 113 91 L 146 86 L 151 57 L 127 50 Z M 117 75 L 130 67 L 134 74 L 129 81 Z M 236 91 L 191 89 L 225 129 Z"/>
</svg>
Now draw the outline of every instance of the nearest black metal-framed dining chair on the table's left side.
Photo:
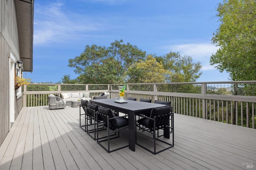
<svg viewBox="0 0 256 170">
<path fill-rule="evenodd" d="M 120 145 L 120 140 L 118 140 L 116 147 L 110 150 L 110 140 L 120 137 L 120 131 L 128 128 L 128 119 L 126 118 L 127 115 L 117 117 L 111 109 L 98 106 L 97 116 L 101 117 L 107 129 L 107 136 L 100 137 L 100 138 L 98 136 L 99 132 L 97 131 L 97 143 L 102 148 L 104 148 L 108 153 L 110 153 L 115 150 L 119 150 L 129 146 L 129 144 L 127 144 L 127 145 L 118 147 Z M 98 127 L 98 124 L 97 124 L 97 127 Z M 102 144 L 102 142 L 104 141 L 108 141 L 107 146 Z M 113 148 L 113 146 L 111 148 Z"/>
</svg>

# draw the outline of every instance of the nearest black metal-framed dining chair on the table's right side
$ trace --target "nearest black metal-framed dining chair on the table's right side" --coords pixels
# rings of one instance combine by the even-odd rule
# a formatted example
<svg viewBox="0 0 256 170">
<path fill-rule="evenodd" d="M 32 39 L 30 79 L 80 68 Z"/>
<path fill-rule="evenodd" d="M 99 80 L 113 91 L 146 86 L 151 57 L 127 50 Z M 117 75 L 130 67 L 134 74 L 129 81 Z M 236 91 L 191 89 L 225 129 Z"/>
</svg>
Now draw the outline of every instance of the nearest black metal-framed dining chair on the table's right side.
<svg viewBox="0 0 256 170">
<path fill-rule="evenodd" d="M 147 141 L 145 142 L 142 140 L 142 143 L 138 143 L 137 140 L 137 131 L 136 131 L 136 144 L 139 145 L 140 147 L 148 150 L 149 152 L 153 154 L 158 154 L 159 152 L 162 152 L 166 149 L 169 149 L 174 146 L 174 114 L 170 112 L 171 106 L 163 106 L 163 107 L 156 107 L 151 110 L 150 117 L 142 115 L 142 119 L 139 119 L 137 121 L 138 127 L 139 125 L 142 125 L 142 133 L 150 133 L 153 135 L 153 141 L 148 139 L 148 135 L 141 135 L 142 139 L 146 139 Z M 171 117 L 171 119 L 170 119 Z M 170 126 L 170 120 L 172 121 Z M 159 129 L 165 129 L 169 128 L 169 130 L 172 130 L 172 142 L 168 142 L 168 140 L 161 139 L 163 135 L 158 134 Z M 157 135 L 156 135 L 157 132 Z M 171 139 L 170 139 L 171 140 Z M 157 141 L 160 141 L 160 144 L 157 143 Z M 149 143 L 154 143 L 154 150 L 150 149 L 150 144 Z M 166 144 L 166 145 L 165 145 Z M 164 146 L 165 145 L 165 146 Z M 152 146 L 151 146 L 152 148 Z"/>
</svg>

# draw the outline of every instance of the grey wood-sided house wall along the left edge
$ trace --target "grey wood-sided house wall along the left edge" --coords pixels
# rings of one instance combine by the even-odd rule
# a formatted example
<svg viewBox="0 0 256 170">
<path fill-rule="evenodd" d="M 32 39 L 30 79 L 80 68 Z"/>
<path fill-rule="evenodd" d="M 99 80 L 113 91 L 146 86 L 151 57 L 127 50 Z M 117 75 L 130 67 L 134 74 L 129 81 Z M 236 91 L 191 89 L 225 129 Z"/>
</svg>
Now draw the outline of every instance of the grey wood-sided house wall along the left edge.
<svg viewBox="0 0 256 170">
<path fill-rule="evenodd" d="M 0 1 L 0 145 L 10 130 L 10 98 L 14 98 L 15 119 L 22 109 L 22 98 L 10 96 L 10 53 L 20 60 L 18 25 L 14 0 Z M 16 62 L 15 61 L 15 62 Z"/>
</svg>

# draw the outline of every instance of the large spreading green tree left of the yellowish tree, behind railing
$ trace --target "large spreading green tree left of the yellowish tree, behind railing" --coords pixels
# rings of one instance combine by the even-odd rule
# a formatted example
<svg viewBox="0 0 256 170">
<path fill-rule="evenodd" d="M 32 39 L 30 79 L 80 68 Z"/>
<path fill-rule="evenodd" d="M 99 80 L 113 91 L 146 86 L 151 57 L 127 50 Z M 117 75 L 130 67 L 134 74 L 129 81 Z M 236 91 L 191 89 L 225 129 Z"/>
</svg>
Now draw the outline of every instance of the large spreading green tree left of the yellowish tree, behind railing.
<svg viewBox="0 0 256 170">
<path fill-rule="evenodd" d="M 126 71 L 139 60 L 145 59 L 146 52 L 123 40 L 101 47 L 86 45 L 84 53 L 69 59 L 68 66 L 74 67 L 79 83 L 84 84 L 115 84 L 124 83 Z"/>
</svg>

